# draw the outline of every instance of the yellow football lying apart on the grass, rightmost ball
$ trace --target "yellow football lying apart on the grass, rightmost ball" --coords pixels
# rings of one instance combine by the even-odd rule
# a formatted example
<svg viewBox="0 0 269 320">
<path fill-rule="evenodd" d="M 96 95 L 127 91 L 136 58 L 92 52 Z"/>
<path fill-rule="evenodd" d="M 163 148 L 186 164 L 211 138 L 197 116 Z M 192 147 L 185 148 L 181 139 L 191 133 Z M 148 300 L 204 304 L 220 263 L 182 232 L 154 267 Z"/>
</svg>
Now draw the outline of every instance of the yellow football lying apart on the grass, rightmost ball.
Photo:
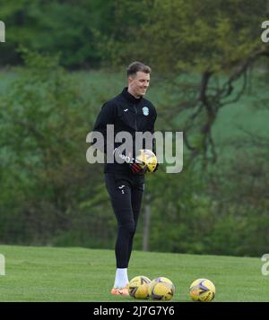
<svg viewBox="0 0 269 320">
<path fill-rule="evenodd" d="M 216 289 L 212 281 L 197 279 L 190 285 L 189 294 L 194 301 L 208 302 L 215 297 Z"/>
</svg>

